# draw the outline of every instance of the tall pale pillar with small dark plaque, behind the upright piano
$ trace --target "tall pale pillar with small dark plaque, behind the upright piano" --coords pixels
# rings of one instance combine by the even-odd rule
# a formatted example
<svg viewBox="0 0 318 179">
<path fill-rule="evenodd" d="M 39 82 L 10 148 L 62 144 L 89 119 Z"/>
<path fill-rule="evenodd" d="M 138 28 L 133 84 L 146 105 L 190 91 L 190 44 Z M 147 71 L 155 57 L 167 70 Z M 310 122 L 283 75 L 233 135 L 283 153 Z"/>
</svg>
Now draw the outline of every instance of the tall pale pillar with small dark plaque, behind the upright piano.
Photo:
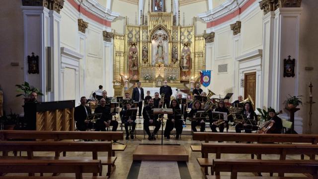
<svg viewBox="0 0 318 179">
<path fill-rule="evenodd" d="M 58 96 L 58 79 L 60 70 L 60 10 L 64 0 L 22 0 L 23 26 L 24 26 L 24 81 L 39 88 L 43 96 L 38 96 L 39 101 L 55 100 Z M 53 91 L 47 92 L 47 51 L 52 47 Z M 39 74 L 28 73 L 27 56 L 39 56 Z"/>
</svg>

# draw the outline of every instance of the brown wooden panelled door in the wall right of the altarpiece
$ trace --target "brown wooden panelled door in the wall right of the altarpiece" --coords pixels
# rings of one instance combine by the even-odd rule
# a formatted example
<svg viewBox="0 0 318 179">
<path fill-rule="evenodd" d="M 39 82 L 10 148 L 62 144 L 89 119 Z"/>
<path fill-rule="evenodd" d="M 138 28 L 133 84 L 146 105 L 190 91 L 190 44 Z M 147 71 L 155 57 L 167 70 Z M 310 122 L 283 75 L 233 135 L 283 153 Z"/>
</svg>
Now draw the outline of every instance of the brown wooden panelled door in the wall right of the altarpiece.
<svg viewBox="0 0 318 179">
<path fill-rule="evenodd" d="M 255 102 L 256 97 L 256 72 L 244 74 L 244 98 L 248 97 L 248 94 Z"/>
</svg>

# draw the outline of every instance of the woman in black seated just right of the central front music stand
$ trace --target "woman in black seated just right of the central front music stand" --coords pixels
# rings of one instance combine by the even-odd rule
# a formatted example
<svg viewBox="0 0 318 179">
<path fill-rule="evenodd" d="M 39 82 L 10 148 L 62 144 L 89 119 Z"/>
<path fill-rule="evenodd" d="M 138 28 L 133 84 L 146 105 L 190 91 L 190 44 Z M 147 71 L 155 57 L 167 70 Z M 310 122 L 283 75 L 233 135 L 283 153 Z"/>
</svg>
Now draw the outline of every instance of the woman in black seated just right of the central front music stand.
<svg viewBox="0 0 318 179">
<path fill-rule="evenodd" d="M 176 130 L 175 139 L 179 139 L 179 135 L 182 132 L 182 120 L 181 120 L 181 109 L 176 99 L 172 99 L 170 108 L 172 108 L 173 114 L 168 114 L 168 119 L 165 122 L 164 137 L 166 137 L 167 139 L 170 139 L 170 132 L 173 128 L 175 128 Z"/>
</svg>

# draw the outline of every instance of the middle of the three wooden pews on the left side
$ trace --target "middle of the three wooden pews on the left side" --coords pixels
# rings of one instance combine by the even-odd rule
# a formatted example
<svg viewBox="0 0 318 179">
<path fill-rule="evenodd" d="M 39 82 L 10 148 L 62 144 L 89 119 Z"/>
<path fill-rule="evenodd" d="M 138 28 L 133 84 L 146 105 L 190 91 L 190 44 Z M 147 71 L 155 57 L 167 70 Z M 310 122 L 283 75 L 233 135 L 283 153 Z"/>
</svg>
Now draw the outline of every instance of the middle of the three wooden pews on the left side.
<svg viewBox="0 0 318 179">
<path fill-rule="evenodd" d="M 0 150 L 2 157 L 0 159 L 19 159 L 19 157 L 8 157 L 9 151 L 26 151 L 27 159 L 44 159 L 44 160 L 83 160 L 87 157 L 34 157 L 33 152 L 92 152 L 90 159 L 101 160 L 102 165 L 108 166 L 107 176 L 111 174 L 111 167 L 114 166 L 117 157 L 112 157 L 111 142 L 65 142 L 65 141 L 0 141 Z M 108 157 L 99 157 L 97 152 L 108 152 Z M 20 159 L 26 159 L 21 157 Z M 89 159 L 89 158 L 88 158 Z"/>
</svg>

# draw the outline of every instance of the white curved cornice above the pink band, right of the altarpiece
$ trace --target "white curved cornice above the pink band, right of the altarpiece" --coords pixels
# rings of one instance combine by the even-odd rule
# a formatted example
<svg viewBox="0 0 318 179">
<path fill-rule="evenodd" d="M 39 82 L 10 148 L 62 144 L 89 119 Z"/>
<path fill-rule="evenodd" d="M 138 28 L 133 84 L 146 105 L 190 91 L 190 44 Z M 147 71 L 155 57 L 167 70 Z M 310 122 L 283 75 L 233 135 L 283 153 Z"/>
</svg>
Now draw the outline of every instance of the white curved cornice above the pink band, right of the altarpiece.
<svg viewBox="0 0 318 179">
<path fill-rule="evenodd" d="M 205 22 L 210 22 L 234 12 L 247 1 L 248 0 L 227 0 L 212 10 L 198 14 L 198 17 L 200 17 Z"/>
</svg>

